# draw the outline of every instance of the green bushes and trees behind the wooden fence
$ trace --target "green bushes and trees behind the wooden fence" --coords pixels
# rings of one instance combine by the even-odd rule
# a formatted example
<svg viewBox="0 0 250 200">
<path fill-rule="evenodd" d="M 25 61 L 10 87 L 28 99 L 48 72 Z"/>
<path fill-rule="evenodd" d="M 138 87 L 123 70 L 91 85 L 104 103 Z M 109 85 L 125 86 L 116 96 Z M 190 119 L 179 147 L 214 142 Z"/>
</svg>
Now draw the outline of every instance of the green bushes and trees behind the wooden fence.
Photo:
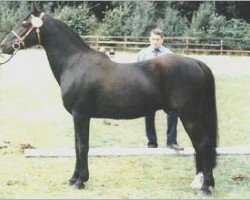
<svg viewBox="0 0 250 200">
<path fill-rule="evenodd" d="M 0 38 L 21 16 L 27 1 L 1 1 Z M 36 1 L 38 8 L 80 35 L 148 36 L 161 28 L 166 36 L 239 38 L 250 48 L 250 2 L 247 1 Z M 230 44 L 231 48 L 237 43 Z"/>
</svg>

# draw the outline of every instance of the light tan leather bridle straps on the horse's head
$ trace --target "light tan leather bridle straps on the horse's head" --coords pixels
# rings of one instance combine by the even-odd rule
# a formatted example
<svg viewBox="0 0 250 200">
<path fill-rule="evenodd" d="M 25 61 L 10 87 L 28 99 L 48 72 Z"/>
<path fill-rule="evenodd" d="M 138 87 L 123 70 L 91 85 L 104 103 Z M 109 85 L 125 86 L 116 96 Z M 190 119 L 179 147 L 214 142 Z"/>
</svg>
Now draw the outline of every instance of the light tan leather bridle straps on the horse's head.
<svg viewBox="0 0 250 200">
<path fill-rule="evenodd" d="M 38 17 L 40 20 L 42 20 L 43 16 L 45 14 L 42 12 L 40 14 L 40 16 Z M 15 51 L 18 51 L 21 47 L 21 45 L 26 48 L 25 46 L 25 42 L 24 40 L 26 39 L 26 37 L 34 30 L 36 29 L 36 35 L 37 35 L 37 39 L 38 39 L 38 42 L 39 44 L 41 45 L 41 36 L 40 36 L 40 27 L 42 26 L 42 24 L 39 24 L 39 25 L 36 25 L 36 24 L 33 24 L 32 23 L 32 27 L 27 31 L 27 33 L 23 36 L 23 37 L 20 37 L 14 30 L 12 30 L 11 32 L 16 36 L 16 38 L 18 39 L 17 42 L 15 42 L 12 47 Z"/>
</svg>

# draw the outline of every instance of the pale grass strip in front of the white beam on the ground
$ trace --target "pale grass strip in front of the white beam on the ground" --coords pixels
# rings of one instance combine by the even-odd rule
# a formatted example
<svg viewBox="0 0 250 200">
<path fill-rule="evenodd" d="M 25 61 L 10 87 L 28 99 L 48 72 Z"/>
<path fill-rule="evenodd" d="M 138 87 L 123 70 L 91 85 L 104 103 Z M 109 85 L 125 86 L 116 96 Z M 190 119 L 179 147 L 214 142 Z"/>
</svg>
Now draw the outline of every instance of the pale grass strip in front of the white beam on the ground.
<svg viewBox="0 0 250 200">
<path fill-rule="evenodd" d="M 249 198 L 249 163 L 249 156 L 219 156 L 211 198 Z M 81 191 L 67 185 L 73 165 L 73 158 L 3 156 L 0 198 L 199 198 L 198 191 L 189 188 L 192 157 L 90 157 L 91 179 Z M 239 176 L 243 178 L 234 180 Z"/>
</svg>

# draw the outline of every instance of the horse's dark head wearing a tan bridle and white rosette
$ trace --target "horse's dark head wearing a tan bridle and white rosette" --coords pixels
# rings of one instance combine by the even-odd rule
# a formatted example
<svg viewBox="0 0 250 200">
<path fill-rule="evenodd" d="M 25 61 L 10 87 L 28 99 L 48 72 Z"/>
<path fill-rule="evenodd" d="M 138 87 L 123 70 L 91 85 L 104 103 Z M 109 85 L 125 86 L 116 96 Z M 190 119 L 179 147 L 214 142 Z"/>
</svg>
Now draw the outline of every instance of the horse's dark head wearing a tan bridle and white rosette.
<svg viewBox="0 0 250 200">
<path fill-rule="evenodd" d="M 19 49 L 39 44 L 40 29 L 43 26 L 44 13 L 33 8 L 1 42 L 2 53 L 13 54 Z"/>
</svg>

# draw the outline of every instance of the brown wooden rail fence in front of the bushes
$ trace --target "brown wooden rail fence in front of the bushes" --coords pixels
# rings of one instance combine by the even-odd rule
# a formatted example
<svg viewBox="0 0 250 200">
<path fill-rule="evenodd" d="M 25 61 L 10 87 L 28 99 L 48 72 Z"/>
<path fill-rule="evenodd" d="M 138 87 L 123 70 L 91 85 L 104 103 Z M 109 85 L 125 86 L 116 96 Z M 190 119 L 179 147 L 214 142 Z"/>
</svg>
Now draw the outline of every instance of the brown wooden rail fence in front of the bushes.
<svg viewBox="0 0 250 200">
<path fill-rule="evenodd" d="M 82 36 L 95 49 L 138 51 L 148 46 L 148 37 Z M 250 38 L 165 37 L 164 45 L 176 53 L 244 54 L 250 55 Z"/>
</svg>

